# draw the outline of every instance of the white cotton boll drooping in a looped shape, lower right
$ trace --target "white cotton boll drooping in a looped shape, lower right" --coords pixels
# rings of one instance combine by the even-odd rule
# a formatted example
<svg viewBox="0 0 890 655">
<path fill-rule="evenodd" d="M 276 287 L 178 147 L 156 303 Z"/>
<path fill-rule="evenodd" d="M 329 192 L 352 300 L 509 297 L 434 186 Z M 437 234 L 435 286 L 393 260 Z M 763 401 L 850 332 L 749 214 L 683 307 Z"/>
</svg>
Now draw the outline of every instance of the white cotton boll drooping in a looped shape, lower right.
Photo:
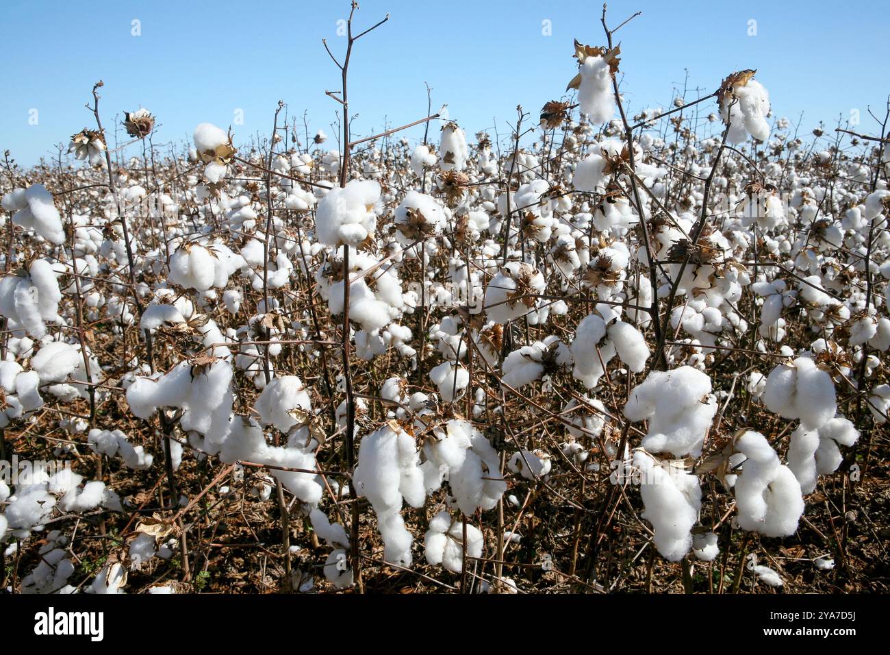
<svg viewBox="0 0 890 655">
<path fill-rule="evenodd" d="M 763 536 L 789 536 L 797 532 L 804 513 L 800 483 L 779 461 L 766 438 L 748 430 L 735 441 L 735 450 L 747 459 L 733 487 L 739 527 Z"/>
</svg>

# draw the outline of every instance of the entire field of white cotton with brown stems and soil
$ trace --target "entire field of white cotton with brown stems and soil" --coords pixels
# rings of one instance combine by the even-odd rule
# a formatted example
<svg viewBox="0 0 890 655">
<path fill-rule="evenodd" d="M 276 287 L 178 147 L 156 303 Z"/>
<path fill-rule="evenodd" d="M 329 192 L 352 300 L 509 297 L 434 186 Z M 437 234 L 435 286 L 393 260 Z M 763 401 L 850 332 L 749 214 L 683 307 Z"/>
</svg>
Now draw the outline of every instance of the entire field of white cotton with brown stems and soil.
<svg viewBox="0 0 890 655">
<path fill-rule="evenodd" d="M 6 151 L 0 593 L 886 591 L 890 103 L 628 111 L 603 10 L 508 133 L 353 134 L 381 18 L 336 134 Z"/>
</svg>

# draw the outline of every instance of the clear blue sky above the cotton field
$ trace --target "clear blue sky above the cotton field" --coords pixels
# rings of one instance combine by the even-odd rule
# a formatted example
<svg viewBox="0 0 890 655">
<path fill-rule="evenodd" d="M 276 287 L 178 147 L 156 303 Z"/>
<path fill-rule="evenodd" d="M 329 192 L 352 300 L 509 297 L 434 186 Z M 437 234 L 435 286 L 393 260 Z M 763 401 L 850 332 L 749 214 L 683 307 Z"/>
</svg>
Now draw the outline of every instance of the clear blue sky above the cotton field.
<svg viewBox="0 0 890 655">
<path fill-rule="evenodd" d="M 468 134 L 494 119 L 505 131 L 518 103 L 537 122 L 541 105 L 560 97 L 575 73 L 572 38 L 603 41 L 601 7 L 589 0 L 362 0 L 358 29 L 386 12 L 391 19 L 356 45 L 353 132 L 379 131 L 384 116 L 390 127 L 422 118 L 424 82 L 433 87 L 433 111 L 448 102 Z M 804 111 L 805 127 L 813 127 L 859 109 L 861 128 L 870 130 L 867 106 L 878 113 L 890 92 L 880 54 L 886 8 L 870 0 L 620 0 L 610 3 L 609 20 L 615 26 L 643 11 L 616 37 L 631 111 L 666 105 L 685 70 L 692 88 L 709 93 L 733 70 L 756 68 L 777 115 L 797 120 Z M 279 99 L 291 114 L 308 110 L 312 133 L 321 127 L 330 135 L 338 105 L 324 92 L 339 87 L 339 71 L 321 38 L 343 53 L 336 21 L 348 10 L 347 0 L 3 0 L 0 150 L 29 165 L 93 127 L 84 104 L 100 78 L 106 126 L 115 113 L 122 118 L 142 105 L 158 117 L 155 143 L 184 140 L 203 121 L 227 128 L 236 109 L 244 113 L 244 125 L 232 126 L 236 141 L 267 135 Z M 142 36 L 132 36 L 133 20 Z M 551 36 L 542 34 L 544 20 Z M 37 125 L 29 125 L 35 109 Z"/>
</svg>

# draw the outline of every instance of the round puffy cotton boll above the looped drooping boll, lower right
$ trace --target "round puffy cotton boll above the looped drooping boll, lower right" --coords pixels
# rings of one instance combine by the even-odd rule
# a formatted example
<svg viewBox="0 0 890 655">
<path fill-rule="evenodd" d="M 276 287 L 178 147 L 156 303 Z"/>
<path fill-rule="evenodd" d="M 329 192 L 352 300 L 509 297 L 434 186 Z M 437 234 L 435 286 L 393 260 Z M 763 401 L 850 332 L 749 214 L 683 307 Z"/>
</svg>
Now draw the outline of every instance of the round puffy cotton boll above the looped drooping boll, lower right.
<svg viewBox="0 0 890 655">
<path fill-rule="evenodd" d="M 766 408 L 786 419 L 816 430 L 837 413 L 834 382 L 809 357 L 779 364 L 766 378 Z"/>
</svg>

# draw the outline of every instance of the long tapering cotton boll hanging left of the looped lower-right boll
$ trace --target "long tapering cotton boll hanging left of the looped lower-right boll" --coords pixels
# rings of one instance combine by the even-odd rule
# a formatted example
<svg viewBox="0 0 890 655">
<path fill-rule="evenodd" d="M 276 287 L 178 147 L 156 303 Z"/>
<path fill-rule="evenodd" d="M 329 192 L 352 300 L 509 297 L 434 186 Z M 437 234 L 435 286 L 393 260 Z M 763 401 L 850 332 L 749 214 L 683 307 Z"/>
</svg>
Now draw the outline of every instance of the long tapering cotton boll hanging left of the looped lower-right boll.
<svg viewBox="0 0 890 655">
<path fill-rule="evenodd" d="M 634 466 L 645 506 L 640 516 L 652 524 L 652 541 L 662 557 L 680 561 L 692 548 L 692 527 L 699 520 L 699 479 L 670 462 L 656 462 L 642 450 L 634 453 Z"/>
</svg>

